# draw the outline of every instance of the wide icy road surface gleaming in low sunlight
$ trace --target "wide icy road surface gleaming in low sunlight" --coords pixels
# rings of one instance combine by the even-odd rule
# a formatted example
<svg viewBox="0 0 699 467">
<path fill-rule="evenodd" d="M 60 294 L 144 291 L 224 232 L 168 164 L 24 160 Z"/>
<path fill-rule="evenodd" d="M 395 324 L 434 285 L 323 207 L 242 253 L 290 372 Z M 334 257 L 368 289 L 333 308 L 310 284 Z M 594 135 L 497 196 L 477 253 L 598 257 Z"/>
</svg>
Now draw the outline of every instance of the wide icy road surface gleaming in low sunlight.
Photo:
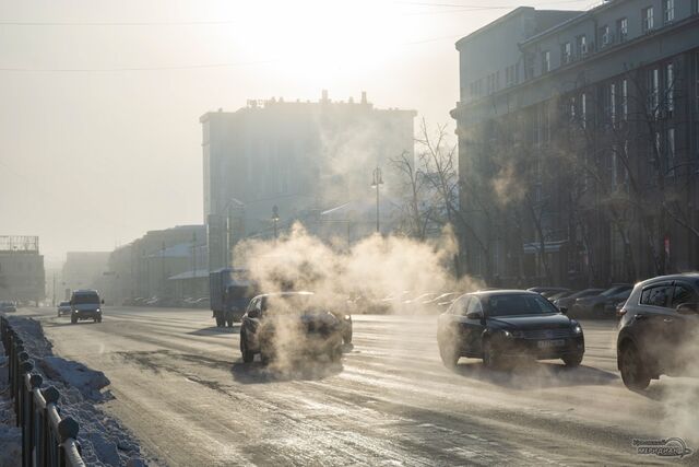
<svg viewBox="0 0 699 467">
<path fill-rule="evenodd" d="M 104 409 L 173 466 L 657 464 L 632 440 L 698 427 L 696 381 L 624 387 L 608 322 L 583 323 L 579 369 L 461 359 L 449 371 L 435 316 L 357 315 L 341 365 L 276 372 L 244 364 L 238 328 L 209 311 L 106 307 L 102 324 L 78 325 L 54 308 L 20 314 L 43 320 L 57 354 L 105 372 Z"/>
</svg>

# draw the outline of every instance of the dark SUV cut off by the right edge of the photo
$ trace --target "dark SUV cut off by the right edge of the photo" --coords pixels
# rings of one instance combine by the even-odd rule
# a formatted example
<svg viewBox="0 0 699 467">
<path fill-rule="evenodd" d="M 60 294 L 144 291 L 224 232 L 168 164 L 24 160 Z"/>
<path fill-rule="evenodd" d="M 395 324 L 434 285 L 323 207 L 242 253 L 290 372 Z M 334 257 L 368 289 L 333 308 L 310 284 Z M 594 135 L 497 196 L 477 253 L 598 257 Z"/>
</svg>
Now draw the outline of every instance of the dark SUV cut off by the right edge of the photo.
<svg viewBox="0 0 699 467">
<path fill-rule="evenodd" d="M 636 284 L 619 315 L 617 366 L 626 387 L 645 389 L 661 374 L 689 375 L 699 342 L 699 273 Z"/>
</svg>

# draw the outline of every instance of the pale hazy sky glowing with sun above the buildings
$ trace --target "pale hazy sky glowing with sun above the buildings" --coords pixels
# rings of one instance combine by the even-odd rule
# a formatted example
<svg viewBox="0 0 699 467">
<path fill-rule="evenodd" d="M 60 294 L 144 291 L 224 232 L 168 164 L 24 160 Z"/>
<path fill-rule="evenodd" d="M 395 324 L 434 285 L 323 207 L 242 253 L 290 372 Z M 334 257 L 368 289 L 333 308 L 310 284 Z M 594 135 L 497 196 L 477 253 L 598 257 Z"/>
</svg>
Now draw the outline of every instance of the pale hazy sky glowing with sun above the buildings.
<svg viewBox="0 0 699 467">
<path fill-rule="evenodd" d="M 39 235 L 51 265 L 201 223 L 198 119 L 248 98 L 366 90 L 451 122 L 454 42 L 519 4 L 0 0 L 0 235 Z"/>
</svg>

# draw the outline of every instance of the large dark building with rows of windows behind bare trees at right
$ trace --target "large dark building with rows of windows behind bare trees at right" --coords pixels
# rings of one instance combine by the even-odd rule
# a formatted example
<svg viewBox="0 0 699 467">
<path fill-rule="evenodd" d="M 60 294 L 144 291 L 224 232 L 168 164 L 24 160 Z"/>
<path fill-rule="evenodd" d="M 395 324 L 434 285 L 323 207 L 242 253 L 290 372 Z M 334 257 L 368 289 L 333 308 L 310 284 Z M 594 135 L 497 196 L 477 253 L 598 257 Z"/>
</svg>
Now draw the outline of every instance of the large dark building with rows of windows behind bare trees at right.
<svg viewBox="0 0 699 467">
<path fill-rule="evenodd" d="M 471 273 L 584 285 L 699 267 L 698 8 L 519 8 L 457 43 Z"/>
</svg>

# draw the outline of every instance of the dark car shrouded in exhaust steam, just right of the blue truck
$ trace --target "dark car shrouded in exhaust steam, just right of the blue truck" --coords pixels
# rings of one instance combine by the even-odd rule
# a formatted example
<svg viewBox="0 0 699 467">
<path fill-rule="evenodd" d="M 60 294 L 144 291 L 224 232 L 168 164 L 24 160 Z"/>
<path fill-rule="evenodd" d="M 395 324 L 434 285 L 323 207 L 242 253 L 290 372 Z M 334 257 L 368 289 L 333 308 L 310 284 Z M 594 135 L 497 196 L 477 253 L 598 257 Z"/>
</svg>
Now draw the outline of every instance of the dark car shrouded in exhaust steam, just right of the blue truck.
<svg viewBox="0 0 699 467">
<path fill-rule="evenodd" d="M 242 361 L 257 353 L 266 364 L 280 352 L 301 355 L 342 357 L 343 323 L 313 303 L 312 292 L 268 293 L 253 297 L 240 324 Z"/>
</svg>

